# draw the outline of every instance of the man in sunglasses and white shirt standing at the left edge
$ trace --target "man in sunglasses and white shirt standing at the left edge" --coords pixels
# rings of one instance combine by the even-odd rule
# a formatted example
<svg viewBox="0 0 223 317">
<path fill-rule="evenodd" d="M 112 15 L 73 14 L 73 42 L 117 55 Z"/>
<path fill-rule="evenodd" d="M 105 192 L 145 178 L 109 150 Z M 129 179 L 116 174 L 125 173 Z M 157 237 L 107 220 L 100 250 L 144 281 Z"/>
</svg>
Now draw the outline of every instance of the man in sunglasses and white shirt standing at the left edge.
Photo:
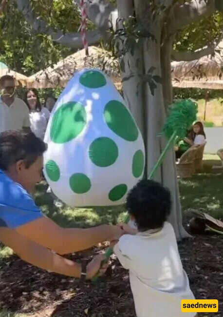
<svg viewBox="0 0 223 317">
<path fill-rule="evenodd" d="M 12 76 L 0 78 L 0 132 L 23 130 L 30 132 L 29 109 L 15 96 L 16 84 Z"/>
</svg>

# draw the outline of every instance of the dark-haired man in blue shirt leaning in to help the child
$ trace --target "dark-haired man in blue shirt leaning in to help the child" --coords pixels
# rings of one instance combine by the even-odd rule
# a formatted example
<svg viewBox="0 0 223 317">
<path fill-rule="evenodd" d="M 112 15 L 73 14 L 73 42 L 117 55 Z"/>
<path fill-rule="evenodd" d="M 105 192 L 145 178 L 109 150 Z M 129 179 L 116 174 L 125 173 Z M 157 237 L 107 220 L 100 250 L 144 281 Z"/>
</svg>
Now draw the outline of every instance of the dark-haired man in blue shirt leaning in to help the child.
<svg viewBox="0 0 223 317">
<path fill-rule="evenodd" d="M 0 241 L 39 268 L 91 279 L 100 270 L 104 256 L 85 267 L 62 255 L 119 239 L 125 232 L 115 225 L 63 228 L 41 212 L 33 196 L 36 183 L 41 181 L 45 150 L 46 144 L 32 132 L 0 133 Z"/>
</svg>

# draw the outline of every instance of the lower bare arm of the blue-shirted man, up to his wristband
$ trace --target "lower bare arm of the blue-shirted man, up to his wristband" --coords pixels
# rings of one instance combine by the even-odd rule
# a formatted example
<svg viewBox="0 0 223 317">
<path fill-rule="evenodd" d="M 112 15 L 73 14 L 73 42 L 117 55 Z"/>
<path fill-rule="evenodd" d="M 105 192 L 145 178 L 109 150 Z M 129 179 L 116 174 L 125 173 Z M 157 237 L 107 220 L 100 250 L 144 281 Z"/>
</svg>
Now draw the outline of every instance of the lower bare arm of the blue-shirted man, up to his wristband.
<svg viewBox="0 0 223 317">
<path fill-rule="evenodd" d="M 71 277 L 81 275 L 80 265 L 28 240 L 16 230 L 0 228 L 0 241 L 9 246 L 22 260 L 41 269 Z"/>
</svg>

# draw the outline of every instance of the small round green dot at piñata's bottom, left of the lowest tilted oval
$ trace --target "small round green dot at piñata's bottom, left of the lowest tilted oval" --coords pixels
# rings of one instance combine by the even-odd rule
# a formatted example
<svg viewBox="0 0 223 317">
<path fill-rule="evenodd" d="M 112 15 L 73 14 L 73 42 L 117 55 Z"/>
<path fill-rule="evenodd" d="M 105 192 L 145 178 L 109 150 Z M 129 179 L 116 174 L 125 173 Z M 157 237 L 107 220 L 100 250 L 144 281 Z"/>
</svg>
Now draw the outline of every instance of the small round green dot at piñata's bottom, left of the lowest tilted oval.
<svg viewBox="0 0 223 317">
<path fill-rule="evenodd" d="M 91 180 L 82 173 L 73 174 L 70 177 L 70 187 L 76 194 L 87 193 L 91 188 Z"/>
</svg>

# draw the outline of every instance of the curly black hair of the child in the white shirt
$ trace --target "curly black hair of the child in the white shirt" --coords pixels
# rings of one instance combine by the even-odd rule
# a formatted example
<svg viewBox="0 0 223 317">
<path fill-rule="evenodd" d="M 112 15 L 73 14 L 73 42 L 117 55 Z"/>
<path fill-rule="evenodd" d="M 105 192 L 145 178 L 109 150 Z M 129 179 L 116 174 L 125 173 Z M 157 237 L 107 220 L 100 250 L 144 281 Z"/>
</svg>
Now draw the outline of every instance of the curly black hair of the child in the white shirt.
<svg viewBox="0 0 223 317">
<path fill-rule="evenodd" d="M 170 215 L 170 192 L 154 180 L 141 180 L 128 193 L 126 207 L 139 231 L 163 227 Z"/>
</svg>

